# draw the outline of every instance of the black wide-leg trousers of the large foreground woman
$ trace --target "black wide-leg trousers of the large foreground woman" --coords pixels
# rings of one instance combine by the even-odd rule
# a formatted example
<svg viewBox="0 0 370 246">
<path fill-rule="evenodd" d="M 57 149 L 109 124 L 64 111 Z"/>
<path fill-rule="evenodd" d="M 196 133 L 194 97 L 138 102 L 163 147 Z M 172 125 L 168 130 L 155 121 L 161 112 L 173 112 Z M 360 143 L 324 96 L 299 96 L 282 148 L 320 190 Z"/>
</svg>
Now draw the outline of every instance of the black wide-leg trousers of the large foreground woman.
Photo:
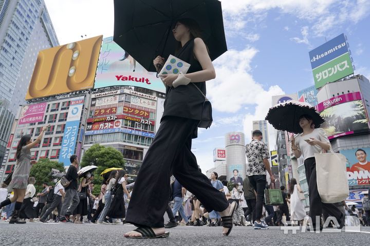
<svg viewBox="0 0 370 246">
<path fill-rule="evenodd" d="M 163 215 L 170 197 L 170 177 L 193 193 L 208 212 L 221 212 L 229 206 L 225 194 L 214 188 L 198 171 L 191 152 L 192 133 L 198 121 L 165 117 L 140 167 L 128 204 L 126 222 L 152 228 L 164 226 Z"/>
</svg>

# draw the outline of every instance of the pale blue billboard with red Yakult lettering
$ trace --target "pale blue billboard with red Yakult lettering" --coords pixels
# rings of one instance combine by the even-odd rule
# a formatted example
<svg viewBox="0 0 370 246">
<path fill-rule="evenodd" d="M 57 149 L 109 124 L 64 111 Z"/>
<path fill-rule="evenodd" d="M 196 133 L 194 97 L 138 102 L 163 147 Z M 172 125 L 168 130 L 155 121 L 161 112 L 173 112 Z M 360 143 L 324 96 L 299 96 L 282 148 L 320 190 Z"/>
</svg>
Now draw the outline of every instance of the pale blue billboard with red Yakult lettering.
<svg viewBox="0 0 370 246">
<path fill-rule="evenodd" d="M 146 71 L 113 41 L 113 37 L 103 39 L 94 88 L 108 86 L 137 86 L 165 93 L 156 73 Z"/>
</svg>

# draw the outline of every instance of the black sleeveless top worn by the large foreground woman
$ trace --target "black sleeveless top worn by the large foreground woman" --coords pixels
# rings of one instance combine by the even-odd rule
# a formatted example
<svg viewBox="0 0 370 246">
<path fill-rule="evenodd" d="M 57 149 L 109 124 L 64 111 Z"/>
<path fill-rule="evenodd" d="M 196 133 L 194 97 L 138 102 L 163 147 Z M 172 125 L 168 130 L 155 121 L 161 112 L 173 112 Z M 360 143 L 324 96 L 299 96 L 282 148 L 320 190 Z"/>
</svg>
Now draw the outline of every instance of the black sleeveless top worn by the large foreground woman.
<svg viewBox="0 0 370 246">
<path fill-rule="evenodd" d="M 203 70 L 194 55 L 194 39 L 188 41 L 175 56 L 190 64 L 187 73 Z M 194 83 L 206 94 L 206 82 Z M 166 116 L 177 116 L 193 120 L 201 119 L 202 105 L 205 98 L 192 83 L 180 85 L 176 88 L 166 86 L 166 97 L 164 101 L 164 112 L 162 119 Z M 162 120 L 161 120 L 162 121 Z M 193 136 L 193 138 L 196 136 Z"/>
</svg>

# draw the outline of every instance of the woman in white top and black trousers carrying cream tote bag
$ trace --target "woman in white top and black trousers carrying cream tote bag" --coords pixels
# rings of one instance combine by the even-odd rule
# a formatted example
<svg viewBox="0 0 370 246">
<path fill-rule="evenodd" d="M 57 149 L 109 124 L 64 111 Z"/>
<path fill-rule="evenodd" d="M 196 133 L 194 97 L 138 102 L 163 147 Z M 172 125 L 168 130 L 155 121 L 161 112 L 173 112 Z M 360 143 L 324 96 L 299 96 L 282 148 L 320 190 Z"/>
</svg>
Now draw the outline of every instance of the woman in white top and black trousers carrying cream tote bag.
<svg viewBox="0 0 370 246">
<path fill-rule="evenodd" d="M 315 122 L 313 122 L 313 117 L 310 115 L 302 115 L 299 118 L 298 124 L 303 129 L 303 133 L 296 137 L 292 137 L 291 149 L 296 158 L 301 156 L 304 158 L 310 202 L 309 216 L 312 219 L 313 228 L 314 230 L 317 230 L 316 223 L 317 221 L 321 221 L 322 210 L 335 216 L 340 223 L 340 228 L 342 228 L 344 214 L 342 214 L 334 204 L 323 203 L 321 201 L 317 186 L 315 154 L 322 153 L 323 150 L 330 150 L 331 145 L 329 139 L 322 128 L 315 128 L 320 125 L 315 124 Z M 319 216 L 320 220 L 317 220 L 317 216 Z M 321 224 L 320 230 L 322 230 Z"/>
</svg>

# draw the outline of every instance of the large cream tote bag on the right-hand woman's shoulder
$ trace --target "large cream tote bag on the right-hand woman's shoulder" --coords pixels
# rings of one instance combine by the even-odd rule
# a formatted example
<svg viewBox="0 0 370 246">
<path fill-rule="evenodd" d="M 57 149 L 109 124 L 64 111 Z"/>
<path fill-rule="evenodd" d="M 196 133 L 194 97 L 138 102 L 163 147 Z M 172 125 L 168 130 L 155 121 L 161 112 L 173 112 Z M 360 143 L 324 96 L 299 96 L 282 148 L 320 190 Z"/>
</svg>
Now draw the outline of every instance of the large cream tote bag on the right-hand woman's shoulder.
<svg viewBox="0 0 370 246">
<path fill-rule="evenodd" d="M 315 154 L 317 185 L 322 202 L 335 203 L 348 198 L 346 158 L 338 153 Z"/>
</svg>

